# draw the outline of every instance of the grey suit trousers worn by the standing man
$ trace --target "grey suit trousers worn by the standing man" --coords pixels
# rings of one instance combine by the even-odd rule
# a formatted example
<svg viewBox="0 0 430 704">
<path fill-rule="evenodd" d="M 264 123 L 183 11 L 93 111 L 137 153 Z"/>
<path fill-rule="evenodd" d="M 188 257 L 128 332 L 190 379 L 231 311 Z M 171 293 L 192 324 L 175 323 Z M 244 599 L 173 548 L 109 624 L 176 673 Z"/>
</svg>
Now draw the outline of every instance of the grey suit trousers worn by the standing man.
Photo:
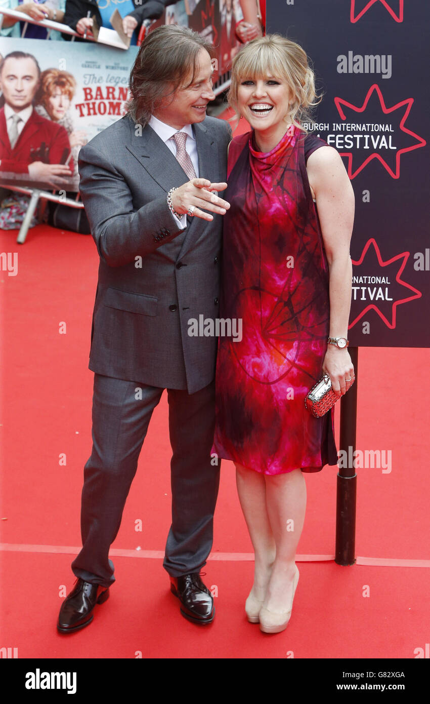
<svg viewBox="0 0 430 704">
<path fill-rule="evenodd" d="M 72 562 L 76 577 L 86 582 L 103 586 L 115 582 L 114 565 L 108 558 L 110 544 L 117 536 L 152 411 L 163 391 L 94 376 L 93 450 L 82 489 L 82 551 Z M 167 394 L 172 517 L 163 566 L 172 577 L 180 577 L 199 572 L 212 546 L 219 488 L 219 466 L 211 464 L 210 456 L 214 382 L 195 394 L 178 389 L 167 389 Z"/>
</svg>

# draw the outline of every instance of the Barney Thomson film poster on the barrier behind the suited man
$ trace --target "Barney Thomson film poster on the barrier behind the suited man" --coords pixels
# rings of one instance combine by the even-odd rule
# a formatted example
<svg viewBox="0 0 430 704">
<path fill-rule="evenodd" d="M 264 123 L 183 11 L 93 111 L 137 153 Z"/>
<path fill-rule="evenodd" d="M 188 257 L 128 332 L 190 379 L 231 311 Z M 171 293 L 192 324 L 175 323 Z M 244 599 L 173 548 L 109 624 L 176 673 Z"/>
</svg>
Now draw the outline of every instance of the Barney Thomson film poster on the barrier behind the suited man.
<svg viewBox="0 0 430 704">
<path fill-rule="evenodd" d="M 0 37 L 1 182 L 78 191 L 79 149 L 126 113 L 137 51 Z"/>
</svg>

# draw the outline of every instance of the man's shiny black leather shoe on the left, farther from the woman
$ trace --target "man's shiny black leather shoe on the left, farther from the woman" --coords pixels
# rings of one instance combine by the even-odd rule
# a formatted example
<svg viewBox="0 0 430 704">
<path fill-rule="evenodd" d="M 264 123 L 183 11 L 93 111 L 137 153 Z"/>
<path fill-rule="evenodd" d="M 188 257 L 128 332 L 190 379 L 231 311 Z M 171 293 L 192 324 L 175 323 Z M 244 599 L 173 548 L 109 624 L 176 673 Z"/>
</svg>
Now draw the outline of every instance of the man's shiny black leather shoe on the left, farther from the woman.
<svg viewBox="0 0 430 704">
<path fill-rule="evenodd" d="M 88 626 L 93 620 L 93 608 L 103 604 L 109 598 L 109 587 L 100 584 L 90 584 L 84 579 L 77 583 L 67 594 L 60 608 L 57 629 L 60 633 L 73 633 Z"/>
</svg>

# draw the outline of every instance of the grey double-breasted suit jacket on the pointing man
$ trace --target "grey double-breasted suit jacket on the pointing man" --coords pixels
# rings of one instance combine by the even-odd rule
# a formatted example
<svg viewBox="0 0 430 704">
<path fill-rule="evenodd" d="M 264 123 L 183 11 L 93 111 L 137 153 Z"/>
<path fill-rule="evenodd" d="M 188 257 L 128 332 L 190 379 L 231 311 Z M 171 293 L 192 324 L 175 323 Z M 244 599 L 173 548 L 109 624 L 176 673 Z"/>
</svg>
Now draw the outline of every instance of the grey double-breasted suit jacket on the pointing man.
<svg viewBox="0 0 430 704">
<path fill-rule="evenodd" d="M 194 126 L 200 177 L 226 180 L 230 127 Z M 190 337 L 188 320 L 219 314 L 222 216 L 178 230 L 167 191 L 188 181 L 149 125 L 125 115 L 79 152 L 82 201 L 100 256 L 89 368 L 117 379 L 188 389 L 214 378 L 216 337 Z"/>
</svg>

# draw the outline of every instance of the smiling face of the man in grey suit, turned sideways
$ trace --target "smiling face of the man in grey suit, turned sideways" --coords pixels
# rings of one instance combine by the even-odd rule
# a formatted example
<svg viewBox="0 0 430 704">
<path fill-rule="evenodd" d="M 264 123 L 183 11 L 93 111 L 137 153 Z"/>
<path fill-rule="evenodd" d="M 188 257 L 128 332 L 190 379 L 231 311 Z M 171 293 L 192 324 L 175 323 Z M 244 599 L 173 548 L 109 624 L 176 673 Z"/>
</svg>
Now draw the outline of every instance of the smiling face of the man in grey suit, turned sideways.
<svg viewBox="0 0 430 704">
<path fill-rule="evenodd" d="M 173 99 L 167 98 L 162 107 L 155 111 L 155 117 L 176 130 L 182 130 L 184 125 L 202 122 L 206 117 L 207 103 L 215 98 L 211 79 L 213 71 L 211 57 L 206 49 L 200 49 L 193 83 L 188 85 L 193 77 L 190 75 L 185 85 L 176 89 Z"/>
</svg>

